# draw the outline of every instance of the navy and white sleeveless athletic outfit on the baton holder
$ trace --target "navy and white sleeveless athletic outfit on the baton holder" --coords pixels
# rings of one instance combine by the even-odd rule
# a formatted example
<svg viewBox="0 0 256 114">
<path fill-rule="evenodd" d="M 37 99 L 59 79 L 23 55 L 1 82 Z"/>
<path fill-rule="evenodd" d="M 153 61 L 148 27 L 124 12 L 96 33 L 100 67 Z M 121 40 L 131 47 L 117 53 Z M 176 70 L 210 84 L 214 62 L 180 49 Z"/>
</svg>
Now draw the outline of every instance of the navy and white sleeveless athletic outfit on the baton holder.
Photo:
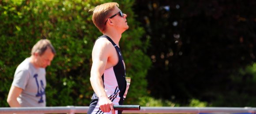
<svg viewBox="0 0 256 114">
<path fill-rule="evenodd" d="M 112 68 L 105 69 L 103 75 L 102 75 L 102 81 L 105 89 L 105 93 L 109 97 L 109 100 L 111 100 L 114 105 L 122 105 L 124 102 L 124 98 L 128 91 L 126 89 L 126 80 L 125 80 L 125 66 L 124 66 L 124 60 L 122 57 L 122 53 L 120 51 L 120 48 L 113 42 L 112 39 L 110 39 L 108 36 L 100 36 L 99 38 L 107 38 L 115 47 L 117 54 L 118 54 L 118 63 L 116 66 L 113 66 Z M 97 39 L 96 39 L 97 40 Z M 95 41 L 96 42 L 96 41 Z M 122 111 L 117 111 L 116 114 L 121 114 Z M 92 96 L 92 101 L 90 102 L 90 107 L 87 112 L 88 114 L 108 114 L 103 113 L 99 109 L 98 105 L 98 96 L 96 93 Z M 111 114 L 111 111 L 109 112 Z"/>
</svg>

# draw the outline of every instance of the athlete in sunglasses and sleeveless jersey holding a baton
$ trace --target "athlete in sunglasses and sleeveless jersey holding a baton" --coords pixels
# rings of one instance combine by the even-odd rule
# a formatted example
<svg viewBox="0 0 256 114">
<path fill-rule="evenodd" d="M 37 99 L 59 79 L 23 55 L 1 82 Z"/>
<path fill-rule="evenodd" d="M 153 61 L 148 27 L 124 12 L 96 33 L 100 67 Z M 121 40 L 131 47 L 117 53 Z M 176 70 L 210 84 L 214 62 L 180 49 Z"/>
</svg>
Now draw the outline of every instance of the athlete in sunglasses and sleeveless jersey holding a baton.
<svg viewBox="0 0 256 114">
<path fill-rule="evenodd" d="M 92 50 L 90 82 L 94 95 L 88 114 L 122 113 L 115 111 L 113 105 L 122 105 L 128 91 L 119 41 L 129 26 L 127 15 L 118 7 L 117 3 L 105 3 L 93 10 L 92 20 L 103 36 L 98 37 Z"/>
</svg>

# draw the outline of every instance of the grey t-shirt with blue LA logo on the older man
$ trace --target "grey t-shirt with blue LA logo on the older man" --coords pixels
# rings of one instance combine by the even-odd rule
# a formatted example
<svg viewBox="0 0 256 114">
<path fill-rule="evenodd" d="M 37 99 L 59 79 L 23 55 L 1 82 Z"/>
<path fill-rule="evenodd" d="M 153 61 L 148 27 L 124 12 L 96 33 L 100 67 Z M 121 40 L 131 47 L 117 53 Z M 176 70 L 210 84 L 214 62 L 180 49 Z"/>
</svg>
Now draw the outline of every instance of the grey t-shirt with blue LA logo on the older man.
<svg viewBox="0 0 256 114">
<path fill-rule="evenodd" d="M 45 107 L 45 68 L 35 68 L 26 58 L 17 67 L 12 86 L 23 89 L 17 98 L 21 107 Z"/>
</svg>

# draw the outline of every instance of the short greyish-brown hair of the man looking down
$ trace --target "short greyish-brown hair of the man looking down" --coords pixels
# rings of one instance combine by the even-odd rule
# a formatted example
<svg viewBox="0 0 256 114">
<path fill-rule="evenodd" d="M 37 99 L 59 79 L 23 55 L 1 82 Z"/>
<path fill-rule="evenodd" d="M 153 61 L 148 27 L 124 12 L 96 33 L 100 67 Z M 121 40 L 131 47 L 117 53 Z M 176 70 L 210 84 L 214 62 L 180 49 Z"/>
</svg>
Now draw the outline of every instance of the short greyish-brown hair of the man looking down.
<svg viewBox="0 0 256 114">
<path fill-rule="evenodd" d="M 31 55 L 34 55 L 34 53 L 38 53 L 40 56 L 45 52 L 47 48 L 50 48 L 53 52 L 53 54 L 56 54 L 55 49 L 53 48 L 53 45 L 51 44 L 50 40 L 48 39 L 40 39 L 32 48 Z"/>
</svg>

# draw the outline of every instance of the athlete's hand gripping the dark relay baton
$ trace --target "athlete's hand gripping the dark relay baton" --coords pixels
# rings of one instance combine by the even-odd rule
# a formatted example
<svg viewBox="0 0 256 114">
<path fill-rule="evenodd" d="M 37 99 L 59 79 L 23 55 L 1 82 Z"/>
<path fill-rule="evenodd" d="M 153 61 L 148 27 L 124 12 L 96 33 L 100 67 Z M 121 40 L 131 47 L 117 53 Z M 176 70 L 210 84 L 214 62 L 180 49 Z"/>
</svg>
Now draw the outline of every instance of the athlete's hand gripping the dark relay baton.
<svg viewBox="0 0 256 114">
<path fill-rule="evenodd" d="M 115 114 L 113 103 L 108 98 L 99 99 L 99 107 L 102 110 L 102 112 L 110 112 L 111 111 L 112 114 Z"/>
</svg>

